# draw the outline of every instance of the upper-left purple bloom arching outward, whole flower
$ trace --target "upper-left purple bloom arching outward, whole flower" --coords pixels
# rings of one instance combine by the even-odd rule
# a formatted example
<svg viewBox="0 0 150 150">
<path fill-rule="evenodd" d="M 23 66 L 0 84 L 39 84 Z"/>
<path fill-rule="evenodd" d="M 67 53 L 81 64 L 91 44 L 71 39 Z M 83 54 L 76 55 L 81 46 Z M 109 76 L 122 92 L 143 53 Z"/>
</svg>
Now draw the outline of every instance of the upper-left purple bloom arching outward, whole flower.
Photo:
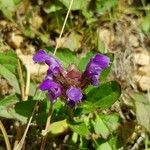
<svg viewBox="0 0 150 150">
<path fill-rule="evenodd" d="M 50 76 L 55 76 L 62 70 L 60 62 L 56 60 L 53 56 L 48 55 L 44 50 L 39 50 L 33 56 L 33 60 L 36 63 L 45 62 L 49 66 L 47 74 Z"/>
</svg>

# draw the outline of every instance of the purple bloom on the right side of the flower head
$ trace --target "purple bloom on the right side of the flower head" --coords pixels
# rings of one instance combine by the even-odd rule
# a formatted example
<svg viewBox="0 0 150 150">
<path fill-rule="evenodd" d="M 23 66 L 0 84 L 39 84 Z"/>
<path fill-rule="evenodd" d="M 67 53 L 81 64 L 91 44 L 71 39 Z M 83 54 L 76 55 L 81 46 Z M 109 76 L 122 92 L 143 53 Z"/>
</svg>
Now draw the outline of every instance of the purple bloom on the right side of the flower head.
<svg viewBox="0 0 150 150">
<path fill-rule="evenodd" d="M 109 65 L 109 58 L 102 54 L 97 54 L 95 57 L 91 58 L 90 62 L 84 72 L 84 76 L 90 80 L 92 85 L 97 86 L 99 84 L 99 76 L 103 69 L 107 68 Z"/>
</svg>

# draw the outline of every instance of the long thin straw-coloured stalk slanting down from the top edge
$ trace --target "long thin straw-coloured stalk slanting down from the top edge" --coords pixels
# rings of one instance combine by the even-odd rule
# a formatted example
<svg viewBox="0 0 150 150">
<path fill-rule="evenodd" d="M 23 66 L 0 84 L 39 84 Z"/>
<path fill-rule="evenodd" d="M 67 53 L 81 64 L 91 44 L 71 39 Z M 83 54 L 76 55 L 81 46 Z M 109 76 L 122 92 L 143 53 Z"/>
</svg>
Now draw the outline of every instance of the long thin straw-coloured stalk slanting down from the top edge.
<svg viewBox="0 0 150 150">
<path fill-rule="evenodd" d="M 65 25 L 66 25 L 66 22 L 67 22 L 67 19 L 68 19 L 68 16 L 69 16 L 69 13 L 70 13 L 72 4 L 73 4 L 73 0 L 71 0 L 71 2 L 70 2 L 69 8 L 68 8 L 68 12 L 67 12 L 67 15 L 66 15 L 66 17 L 65 17 L 65 21 L 64 21 L 64 23 L 63 23 L 63 26 L 62 26 L 62 29 L 61 29 L 61 32 L 60 32 L 60 35 L 59 35 L 59 38 L 58 38 L 58 42 L 56 43 L 56 47 L 55 47 L 55 50 L 54 50 L 53 55 L 55 55 L 56 52 L 57 52 L 58 45 L 59 45 L 61 36 L 62 36 L 62 34 L 63 34 L 63 32 L 64 32 L 64 28 L 65 28 Z"/>
</svg>

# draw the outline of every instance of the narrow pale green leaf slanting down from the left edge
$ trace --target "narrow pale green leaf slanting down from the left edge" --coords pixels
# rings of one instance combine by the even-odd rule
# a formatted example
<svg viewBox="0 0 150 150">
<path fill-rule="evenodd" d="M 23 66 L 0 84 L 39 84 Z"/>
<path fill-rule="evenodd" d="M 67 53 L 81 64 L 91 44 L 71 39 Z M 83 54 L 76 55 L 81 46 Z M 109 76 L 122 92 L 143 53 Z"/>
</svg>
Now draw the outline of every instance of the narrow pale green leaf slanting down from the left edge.
<svg viewBox="0 0 150 150">
<path fill-rule="evenodd" d="M 18 94 L 20 94 L 20 87 L 16 76 L 1 64 L 0 64 L 0 75 L 2 75 L 9 82 L 9 84 L 15 89 L 15 91 Z"/>
</svg>

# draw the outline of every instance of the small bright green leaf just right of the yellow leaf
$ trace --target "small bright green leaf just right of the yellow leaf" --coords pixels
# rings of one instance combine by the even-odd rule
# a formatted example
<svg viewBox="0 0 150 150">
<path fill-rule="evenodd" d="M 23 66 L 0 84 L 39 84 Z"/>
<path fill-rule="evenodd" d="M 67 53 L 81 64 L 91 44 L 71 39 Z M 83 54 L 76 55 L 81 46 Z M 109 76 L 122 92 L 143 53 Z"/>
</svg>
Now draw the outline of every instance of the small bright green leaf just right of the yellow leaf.
<svg viewBox="0 0 150 150">
<path fill-rule="evenodd" d="M 76 132 L 81 136 L 87 136 L 90 134 L 90 131 L 84 122 L 72 122 L 69 124 L 69 127 L 73 132 Z"/>
</svg>

